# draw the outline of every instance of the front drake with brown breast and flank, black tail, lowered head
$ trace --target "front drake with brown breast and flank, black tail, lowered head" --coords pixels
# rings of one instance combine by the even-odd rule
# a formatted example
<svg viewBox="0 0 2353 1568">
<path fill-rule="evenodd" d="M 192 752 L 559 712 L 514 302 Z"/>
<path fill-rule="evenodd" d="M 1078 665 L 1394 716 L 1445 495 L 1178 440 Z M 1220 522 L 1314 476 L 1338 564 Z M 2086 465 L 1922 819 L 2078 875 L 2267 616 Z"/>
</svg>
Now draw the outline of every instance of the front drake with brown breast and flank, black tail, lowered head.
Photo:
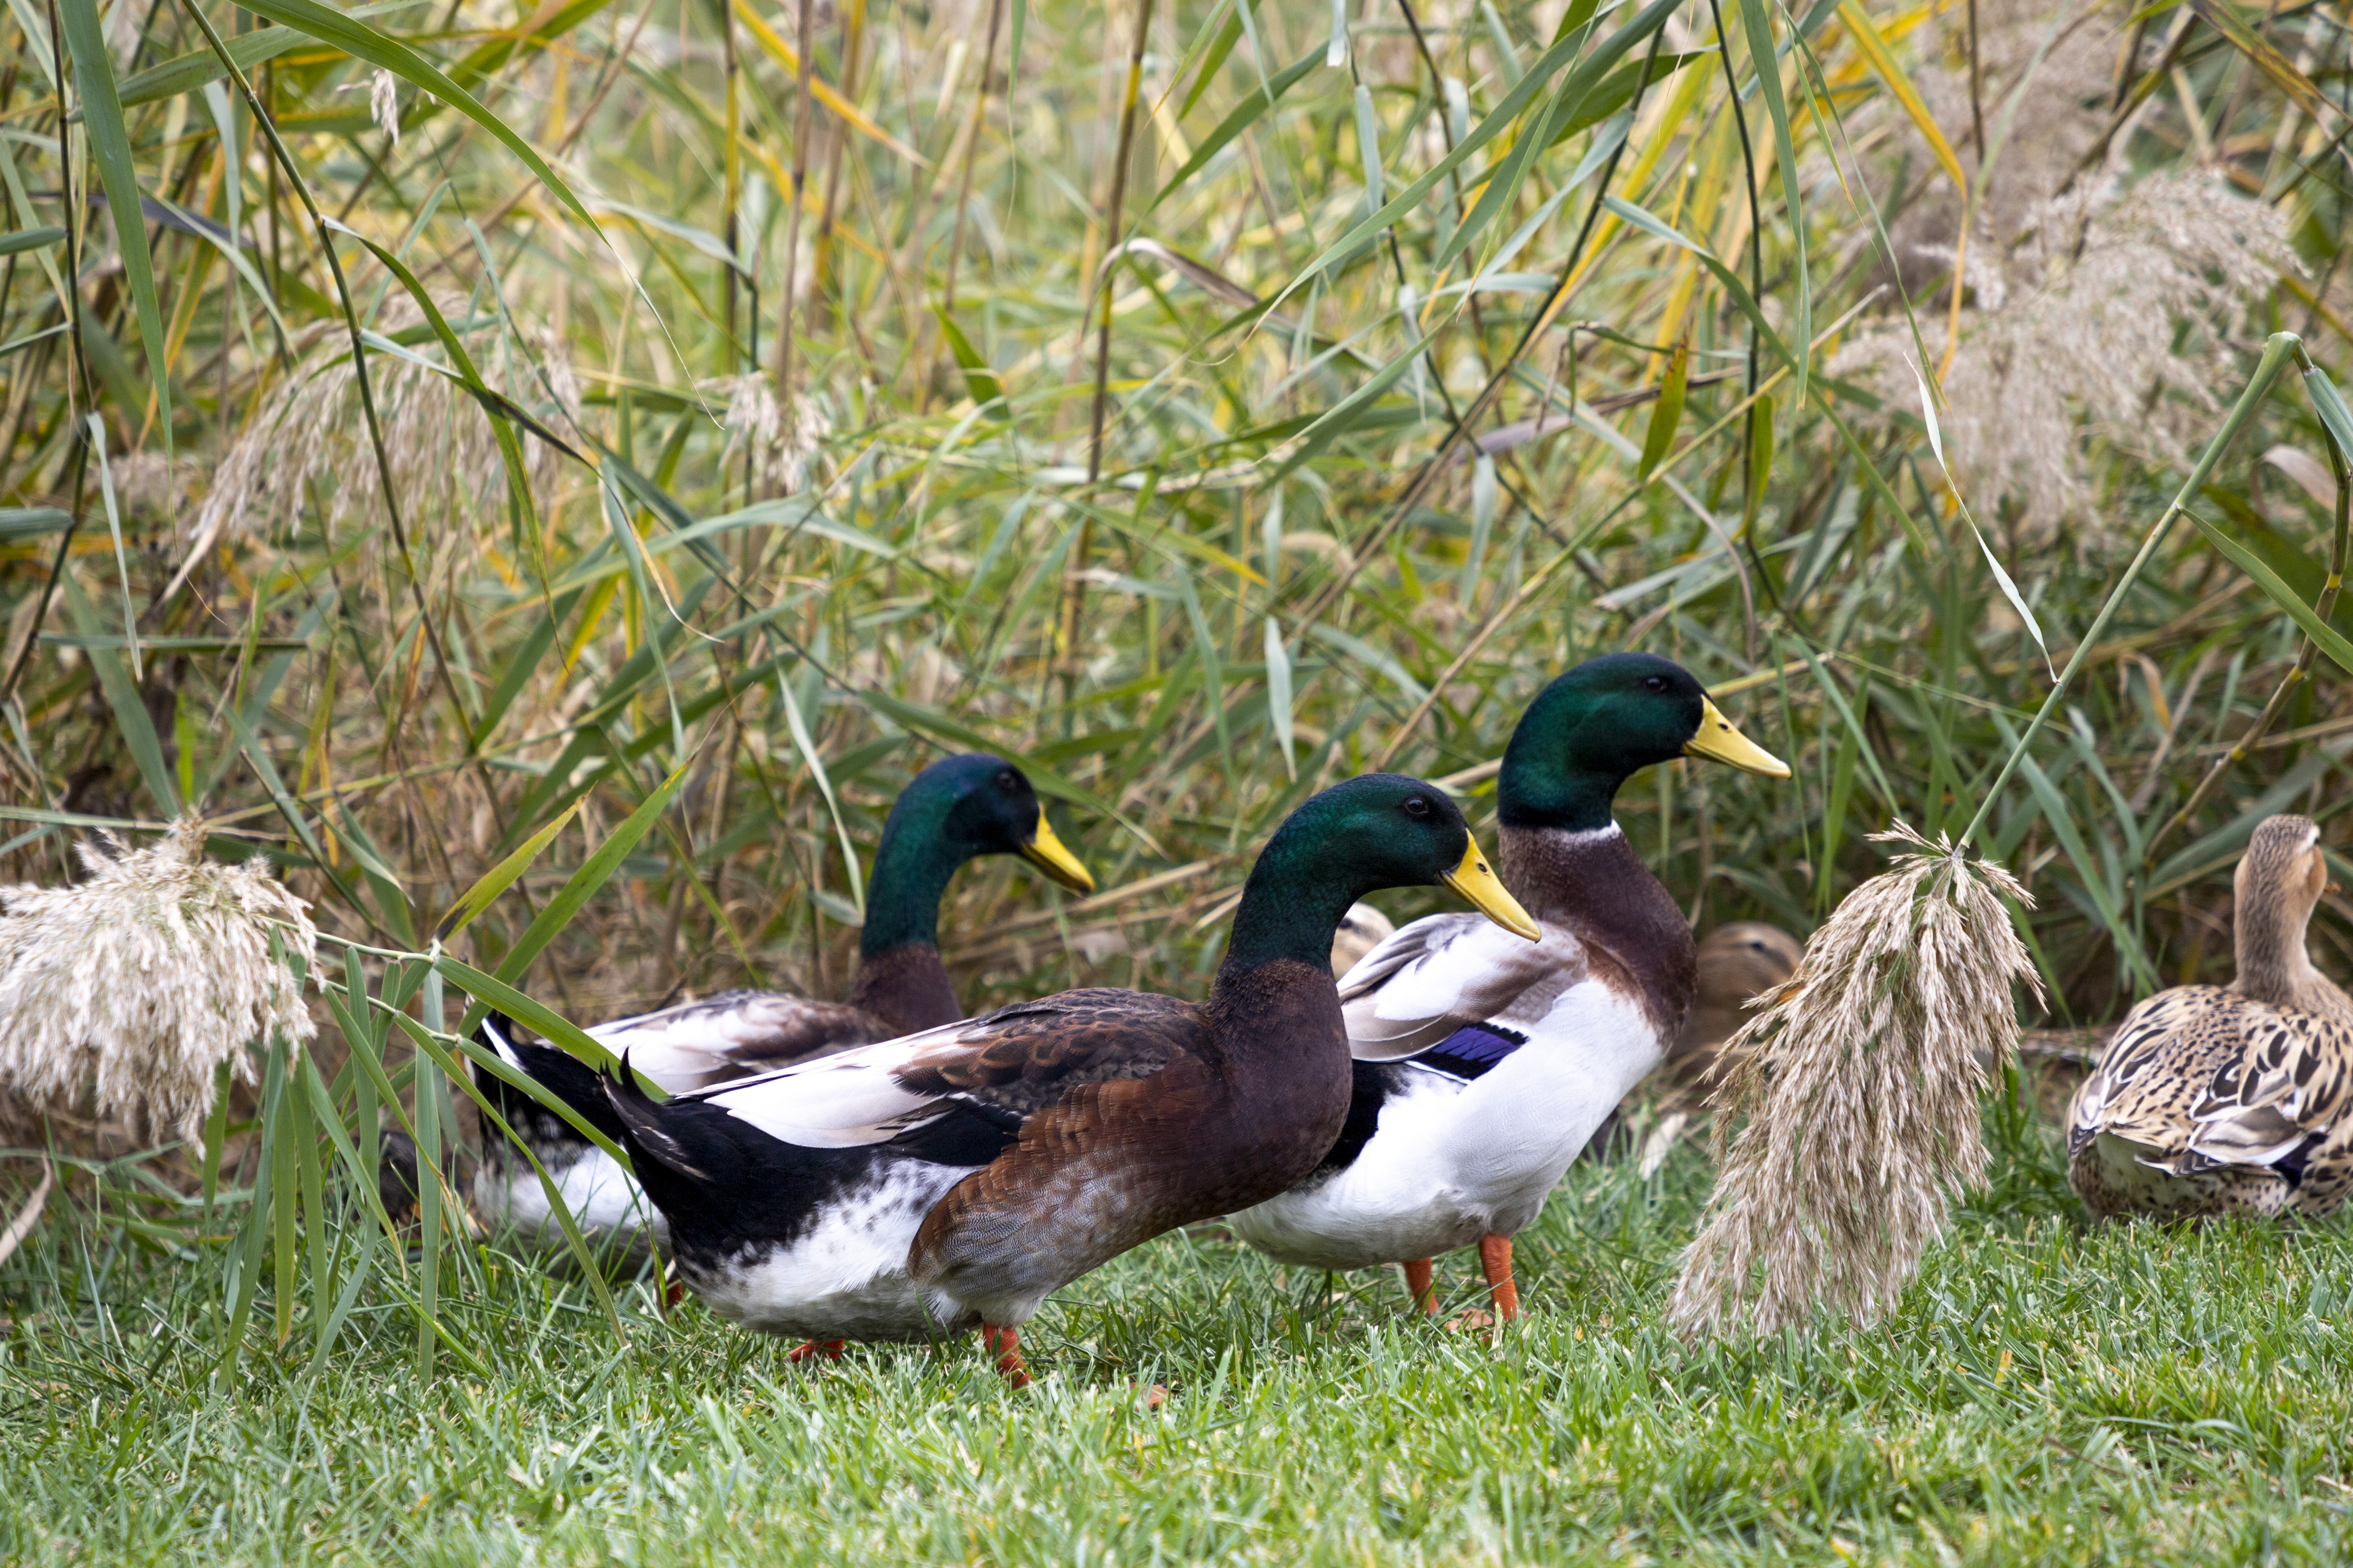
<svg viewBox="0 0 2353 1568">
<path fill-rule="evenodd" d="M 1282 1192 L 1332 1147 L 1332 933 L 1351 900 L 1419 884 L 1537 936 L 1435 785 L 1372 773 L 1268 839 L 1207 1004 L 1075 990 L 666 1105 L 624 1060 L 607 1093 L 713 1312 L 812 1340 L 795 1354 L 981 1328 L 1021 1385 L 1019 1328 L 1047 1293 Z"/>
</svg>

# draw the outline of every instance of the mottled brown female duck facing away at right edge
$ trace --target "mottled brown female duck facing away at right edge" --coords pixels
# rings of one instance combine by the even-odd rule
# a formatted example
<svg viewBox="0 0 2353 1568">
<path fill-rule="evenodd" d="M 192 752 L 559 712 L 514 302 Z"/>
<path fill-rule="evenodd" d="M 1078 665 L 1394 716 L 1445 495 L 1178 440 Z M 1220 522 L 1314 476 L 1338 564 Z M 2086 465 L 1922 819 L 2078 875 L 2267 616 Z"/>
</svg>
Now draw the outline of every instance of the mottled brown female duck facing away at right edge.
<svg viewBox="0 0 2353 1568">
<path fill-rule="evenodd" d="M 2264 818 L 2238 863 L 2238 978 L 2125 1013 L 2068 1107 L 2066 1175 L 2097 1215 L 2325 1215 L 2353 1187 L 2353 1001 L 2304 931 L 2320 827 Z"/>
</svg>

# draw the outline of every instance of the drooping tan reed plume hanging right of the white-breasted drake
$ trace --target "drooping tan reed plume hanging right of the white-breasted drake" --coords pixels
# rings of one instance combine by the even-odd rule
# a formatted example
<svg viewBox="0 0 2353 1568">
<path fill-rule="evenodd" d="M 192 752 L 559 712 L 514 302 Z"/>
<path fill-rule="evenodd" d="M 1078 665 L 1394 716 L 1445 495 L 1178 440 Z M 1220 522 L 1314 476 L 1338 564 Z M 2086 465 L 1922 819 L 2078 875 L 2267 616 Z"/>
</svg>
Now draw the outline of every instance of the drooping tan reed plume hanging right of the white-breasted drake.
<svg viewBox="0 0 2353 1568">
<path fill-rule="evenodd" d="M 1901 820 L 1873 839 L 1927 853 L 1854 889 L 1727 1044 L 1722 1175 L 1668 1305 L 1685 1338 L 1779 1333 L 1817 1307 L 1878 1319 L 1944 1232 L 1946 1192 L 1984 1180 L 1981 1063 L 2017 1041 L 2012 983 L 2040 999 L 2002 896 L 2033 900 L 1951 839 Z"/>
</svg>

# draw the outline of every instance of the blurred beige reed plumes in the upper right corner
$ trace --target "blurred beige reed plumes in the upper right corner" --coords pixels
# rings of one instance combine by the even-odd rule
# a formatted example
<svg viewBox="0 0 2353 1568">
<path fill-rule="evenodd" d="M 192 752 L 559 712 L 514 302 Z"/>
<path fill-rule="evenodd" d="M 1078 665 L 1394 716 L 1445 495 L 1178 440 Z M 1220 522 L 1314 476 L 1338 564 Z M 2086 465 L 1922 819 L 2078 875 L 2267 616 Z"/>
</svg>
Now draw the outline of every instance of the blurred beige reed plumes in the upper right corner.
<svg viewBox="0 0 2353 1568">
<path fill-rule="evenodd" d="M 1981 26 L 1981 103 L 2000 153 L 1977 167 L 1969 26 Z M 2049 0 L 1951 7 L 1918 71 L 1946 141 L 1979 181 L 1967 247 L 1962 193 L 1927 176 L 1894 219 L 1894 273 L 1913 294 L 1920 336 L 1946 357 L 1955 254 L 1965 270 L 1960 346 L 1941 376 L 1944 437 L 1965 491 L 2028 541 L 2099 515 L 2101 447 L 2172 465 L 2209 430 L 2209 388 L 2238 378 L 2252 343 L 2247 308 L 2304 273 L 2287 244 L 2292 214 L 2231 190 L 2217 167 L 2137 174 L 2129 136 L 2108 143 L 2122 14 L 2097 19 Z M 2153 61 L 2160 42 L 2144 40 Z M 2000 122 L 2024 94 L 2007 136 Z M 2169 94 L 2167 94 L 2169 99 Z M 1878 99 L 1852 122 L 1854 146 L 1885 176 L 1934 169 L 1904 110 Z M 2087 162 L 2089 160 L 2089 162 Z M 1859 334 L 1833 360 L 1889 407 L 1913 407 L 1915 357 L 1901 320 Z"/>
</svg>

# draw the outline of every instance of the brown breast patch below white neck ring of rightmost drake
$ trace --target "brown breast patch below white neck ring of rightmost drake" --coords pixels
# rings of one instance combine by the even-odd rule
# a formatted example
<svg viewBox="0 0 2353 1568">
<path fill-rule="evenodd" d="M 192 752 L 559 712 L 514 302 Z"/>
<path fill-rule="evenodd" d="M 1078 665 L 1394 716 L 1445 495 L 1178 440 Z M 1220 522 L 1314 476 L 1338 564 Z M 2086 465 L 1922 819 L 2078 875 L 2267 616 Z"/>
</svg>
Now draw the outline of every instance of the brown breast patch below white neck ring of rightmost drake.
<svg viewBox="0 0 2353 1568">
<path fill-rule="evenodd" d="M 1699 990 L 1692 926 L 1668 898 L 1624 830 L 1497 830 L 1497 872 L 1511 896 L 1541 922 L 1567 926 L 1586 952 L 1624 971 L 1642 1013 L 1661 1034 L 1682 1027 Z"/>
</svg>

